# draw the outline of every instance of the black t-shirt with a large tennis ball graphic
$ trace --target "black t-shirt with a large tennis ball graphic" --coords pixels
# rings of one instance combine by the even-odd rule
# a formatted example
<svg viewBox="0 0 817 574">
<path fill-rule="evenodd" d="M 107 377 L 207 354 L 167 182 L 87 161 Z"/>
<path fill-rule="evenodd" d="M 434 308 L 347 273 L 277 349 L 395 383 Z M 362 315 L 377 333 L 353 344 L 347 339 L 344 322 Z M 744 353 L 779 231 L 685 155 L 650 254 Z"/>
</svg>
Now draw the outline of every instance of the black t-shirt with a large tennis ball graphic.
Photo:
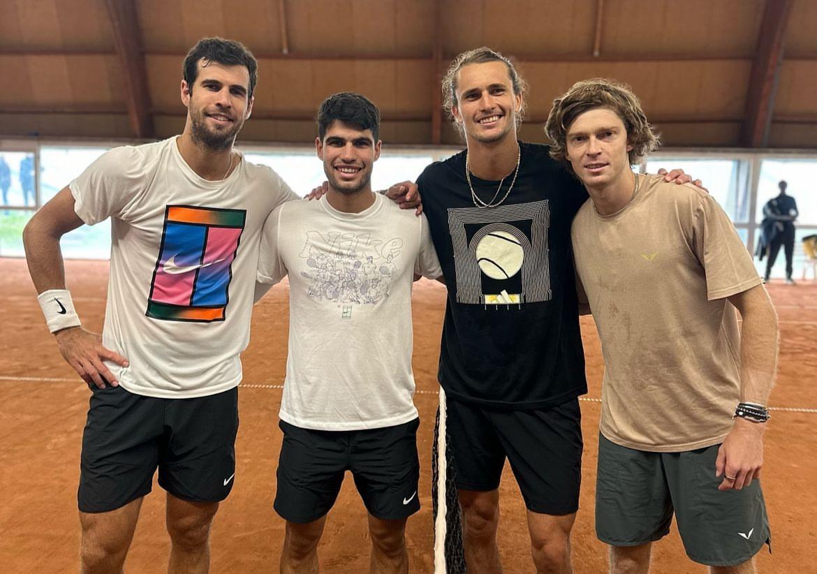
<svg viewBox="0 0 817 574">
<path fill-rule="evenodd" d="M 549 407 L 587 392 L 570 244 L 587 192 L 547 146 L 520 146 L 516 183 L 498 207 L 475 207 L 464 151 L 417 179 L 448 286 L 440 384 L 450 398 L 493 408 Z M 484 202 L 499 185 L 471 183 Z"/>
</svg>

